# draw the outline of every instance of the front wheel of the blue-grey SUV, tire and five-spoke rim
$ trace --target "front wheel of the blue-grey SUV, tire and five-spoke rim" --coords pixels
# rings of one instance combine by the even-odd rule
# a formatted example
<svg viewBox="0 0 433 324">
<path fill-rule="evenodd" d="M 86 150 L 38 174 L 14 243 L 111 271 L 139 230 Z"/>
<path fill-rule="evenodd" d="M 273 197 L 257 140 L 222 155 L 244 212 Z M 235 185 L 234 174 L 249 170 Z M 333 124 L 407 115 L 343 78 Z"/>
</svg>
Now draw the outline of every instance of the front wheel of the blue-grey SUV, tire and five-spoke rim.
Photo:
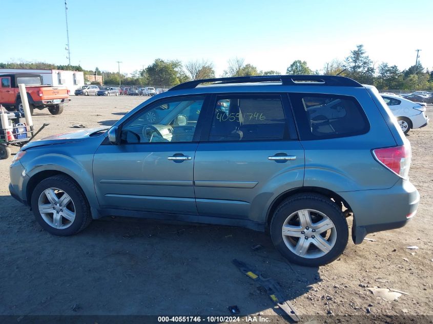
<svg viewBox="0 0 433 324">
<path fill-rule="evenodd" d="M 46 190 L 49 195 L 47 195 Z M 70 202 L 61 206 L 60 203 L 65 193 L 69 196 Z M 51 197 L 50 200 L 48 199 L 49 196 Z M 89 203 L 83 190 L 67 176 L 53 176 L 39 182 L 33 190 L 31 206 L 39 225 L 54 235 L 76 234 L 85 229 L 92 221 Z M 41 213 L 39 211 L 40 206 L 43 206 L 41 209 L 47 210 L 47 213 Z M 51 210 L 53 211 L 51 212 Z M 54 215 L 59 215 L 56 220 L 54 220 Z"/>
</svg>

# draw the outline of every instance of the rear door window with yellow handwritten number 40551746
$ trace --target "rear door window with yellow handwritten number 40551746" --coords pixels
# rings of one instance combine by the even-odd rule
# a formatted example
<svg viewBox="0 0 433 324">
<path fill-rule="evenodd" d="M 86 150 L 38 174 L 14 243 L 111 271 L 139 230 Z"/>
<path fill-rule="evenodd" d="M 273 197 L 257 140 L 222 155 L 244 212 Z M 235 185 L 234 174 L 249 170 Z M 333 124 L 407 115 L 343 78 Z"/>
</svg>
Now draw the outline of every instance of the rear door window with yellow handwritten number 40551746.
<svg viewBox="0 0 433 324">
<path fill-rule="evenodd" d="M 282 140 L 287 126 L 281 96 L 218 96 L 209 141 Z"/>
</svg>

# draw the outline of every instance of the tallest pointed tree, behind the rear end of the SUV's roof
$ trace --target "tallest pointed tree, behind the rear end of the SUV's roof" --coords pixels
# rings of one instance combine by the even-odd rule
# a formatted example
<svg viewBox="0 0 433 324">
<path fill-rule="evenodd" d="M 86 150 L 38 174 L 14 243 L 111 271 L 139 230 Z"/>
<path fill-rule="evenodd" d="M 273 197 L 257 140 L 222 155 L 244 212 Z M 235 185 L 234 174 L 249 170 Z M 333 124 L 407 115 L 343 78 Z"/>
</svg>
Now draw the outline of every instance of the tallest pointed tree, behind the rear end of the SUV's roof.
<svg viewBox="0 0 433 324">
<path fill-rule="evenodd" d="M 373 84 L 375 69 L 363 45 L 357 45 L 344 60 L 345 75 L 360 83 Z"/>
</svg>

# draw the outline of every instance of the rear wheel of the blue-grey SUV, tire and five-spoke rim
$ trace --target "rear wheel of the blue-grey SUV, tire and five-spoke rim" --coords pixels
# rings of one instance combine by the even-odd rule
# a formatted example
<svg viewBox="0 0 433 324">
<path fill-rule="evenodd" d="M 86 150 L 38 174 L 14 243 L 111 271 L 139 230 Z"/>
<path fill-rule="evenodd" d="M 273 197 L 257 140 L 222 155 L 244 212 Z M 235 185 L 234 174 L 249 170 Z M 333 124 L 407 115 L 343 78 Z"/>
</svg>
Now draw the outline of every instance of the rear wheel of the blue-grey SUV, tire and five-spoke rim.
<svg viewBox="0 0 433 324">
<path fill-rule="evenodd" d="M 304 225 L 299 215 L 305 216 L 302 217 Z M 293 236 L 283 235 L 283 226 L 286 233 L 292 228 Z M 323 266 L 336 260 L 343 253 L 348 236 L 341 209 L 331 199 L 316 193 L 287 198 L 277 207 L 271 221 L 271 237 L 276 249 L 288 261 L 307 267 Z"/>
</svg>

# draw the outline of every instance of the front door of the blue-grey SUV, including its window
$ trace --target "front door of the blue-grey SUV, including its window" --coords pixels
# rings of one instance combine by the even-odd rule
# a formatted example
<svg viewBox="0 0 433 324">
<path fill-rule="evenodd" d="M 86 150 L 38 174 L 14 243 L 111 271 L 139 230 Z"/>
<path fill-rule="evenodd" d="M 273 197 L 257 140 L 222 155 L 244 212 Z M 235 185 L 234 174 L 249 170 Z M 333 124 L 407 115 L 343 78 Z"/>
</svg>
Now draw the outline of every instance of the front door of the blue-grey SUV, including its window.
<svg viewBox="0 0 433 324">
<path fill-rule="evenodd" d="M 196 214 L 193 170 L 203 96 L 161 99 L 126 120 L 93 162 L 100 207 Z"/>
</svg>

